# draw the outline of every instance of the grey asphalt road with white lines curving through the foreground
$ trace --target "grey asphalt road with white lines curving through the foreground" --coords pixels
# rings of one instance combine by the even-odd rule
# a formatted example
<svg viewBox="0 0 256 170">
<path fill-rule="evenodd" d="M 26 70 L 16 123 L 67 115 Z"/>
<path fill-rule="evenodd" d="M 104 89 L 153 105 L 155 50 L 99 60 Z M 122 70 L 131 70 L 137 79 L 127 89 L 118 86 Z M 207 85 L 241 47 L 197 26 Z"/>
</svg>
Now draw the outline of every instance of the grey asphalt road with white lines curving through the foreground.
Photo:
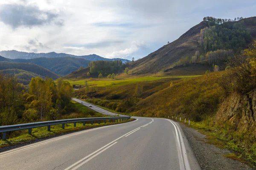
<svg viewBox="0 0 256 170">
<path fill-rule="evenodd" d="M 0 169 L 200 170 L 179 125 L 167 119 L 134 118 L 0 153 Z"/>
</svg>

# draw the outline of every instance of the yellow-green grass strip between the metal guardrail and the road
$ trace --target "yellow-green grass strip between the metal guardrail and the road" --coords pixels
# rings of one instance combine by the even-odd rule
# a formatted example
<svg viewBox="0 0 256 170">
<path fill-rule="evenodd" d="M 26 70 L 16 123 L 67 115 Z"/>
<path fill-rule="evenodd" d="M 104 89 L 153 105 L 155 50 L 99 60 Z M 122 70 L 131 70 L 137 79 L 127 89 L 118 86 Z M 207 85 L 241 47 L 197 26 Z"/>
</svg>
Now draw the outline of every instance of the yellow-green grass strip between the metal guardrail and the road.
<svg viewBox="0 0 256 170">
<path fill-rule="evenodd" d="M 34 142 L 37 139 L 48 139 L 50 137 L 55 137 L 55 136 L 59 136 L 59 135 L 65 134 L 65 133 L 75 132 L 75 131 L 79 131 L 79 130 L 86 130 L 86 129 L 102 127 L 102 126 L 106 126 L 106 125 L 115 125 L 115 124 L 121 124 L 121 123 L 125 123 L 125 122 L 131 122 L 133 120 L 134 119 L 129 119 L 127 121 L 122 121 L 122 122 L 118 122 L 118 123 L 117 122 L 115 122 L 115 123 L 109 122 L 107 120 L 106 124 L 104 123 L 104 121 L 101 121 L 100 124 L 98 124 L 98 121 L 95 121 L 93 125 L 91 125 L 90 122 L 86 122 L 85 125 L 83 125 L 83 123 L 81 123 L 81 122 L 77 122 L 76 127 L 74 127 L 73 123 L 67 123 L 67 124 L 65 124 L 65 129 L 62 129 L 62 125 L 52 125 L 51 131 L 47 130 L 47 126 L 46 127 L 37 127 L 37 128 L 32 128 L 32 135 L 29 135 L 27 133 L 27 130 L 19 130 L 19 131 L 22 131 L 20 136 L 10 138 L 5 141 L 0 140 L 0 148 L 13 146 L 16 144 L 23 144 L 25 142 Z"/>
</svg>

